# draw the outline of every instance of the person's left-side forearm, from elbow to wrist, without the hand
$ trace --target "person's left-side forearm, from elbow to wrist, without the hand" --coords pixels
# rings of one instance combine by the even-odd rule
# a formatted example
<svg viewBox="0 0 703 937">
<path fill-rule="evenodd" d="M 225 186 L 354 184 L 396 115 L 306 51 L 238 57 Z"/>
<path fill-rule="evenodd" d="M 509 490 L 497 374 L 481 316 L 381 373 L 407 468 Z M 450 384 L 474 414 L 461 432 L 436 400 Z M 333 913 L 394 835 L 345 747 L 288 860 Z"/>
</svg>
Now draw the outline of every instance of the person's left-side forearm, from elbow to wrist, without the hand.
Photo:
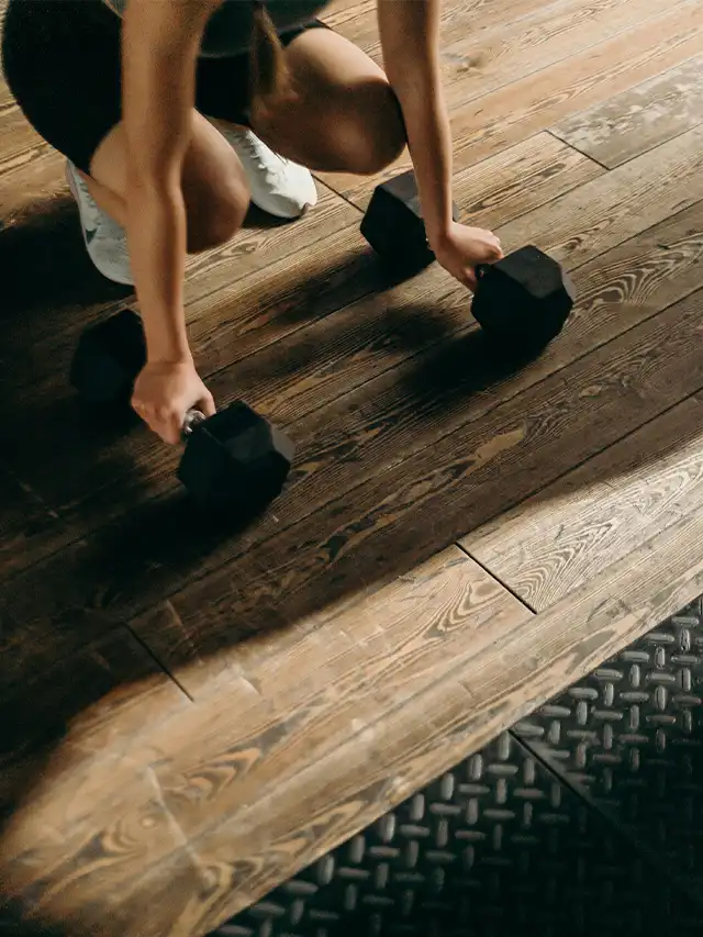
<svg viewBox="0 0 703 937">
<path fill-rule="evenodd" d="M 183 313 L 186 210 L 180 187 L 131 179 L 127 247 L 149 360 L 190 358 Z"/>
</svg>

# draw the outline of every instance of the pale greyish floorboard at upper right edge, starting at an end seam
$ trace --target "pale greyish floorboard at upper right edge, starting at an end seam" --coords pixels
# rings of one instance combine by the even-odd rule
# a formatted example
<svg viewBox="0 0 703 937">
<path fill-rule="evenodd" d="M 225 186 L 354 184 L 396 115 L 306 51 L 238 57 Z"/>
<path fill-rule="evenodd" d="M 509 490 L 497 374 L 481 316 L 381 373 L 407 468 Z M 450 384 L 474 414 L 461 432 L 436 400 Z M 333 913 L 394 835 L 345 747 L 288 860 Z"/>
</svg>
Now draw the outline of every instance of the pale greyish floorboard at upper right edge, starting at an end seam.
<svg viewBox="0 0 703 937">
<path fill-rule="evenodd" d="M 550 132 L 613 169 L 703 123 L 703 55 L 610 101 L 572 114 Z"/>
</svg>

